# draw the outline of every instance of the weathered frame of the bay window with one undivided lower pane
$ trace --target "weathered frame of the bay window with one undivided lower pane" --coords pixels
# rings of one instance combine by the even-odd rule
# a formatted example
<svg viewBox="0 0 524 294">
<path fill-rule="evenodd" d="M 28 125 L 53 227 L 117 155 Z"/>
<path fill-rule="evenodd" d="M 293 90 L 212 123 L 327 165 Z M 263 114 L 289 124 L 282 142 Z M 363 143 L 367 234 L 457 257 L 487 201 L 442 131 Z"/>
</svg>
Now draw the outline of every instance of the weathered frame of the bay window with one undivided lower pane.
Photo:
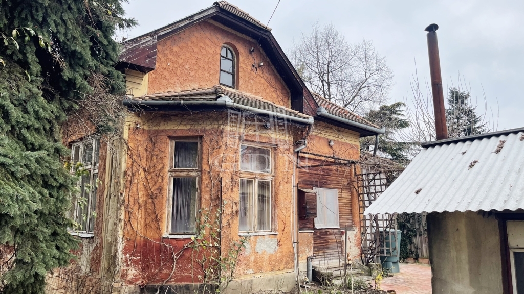
<svg viewBox="0 0 524 294">
<path fill-rule="evenodd" d="M 200 199 L 200 178 L 201 178 L 201 140 L 199 138 L 170 138 L 169 142 L 169 186 L 168 186 L 168 196 L 167 196 L 167 223 L 166 223 L 166 238 L 189 238 L 194 235 L 196 232 L 196 225 L 198 224 L 195 219 L 195 231 L 193 232 L 172 232 L 171 231 L 171 219 L 173 215 L 173 183 L 174 178 L 179 177 L 195 177 L 196 178 L 196 193 L 195 193 L 195 217 L 198 218 L 199 210 L 199 199 Z M 177 142 L 196 142 L 198 143 L 197 147 L 197 156 L 196 156 L 196 167 L 195 168 L 175 168 L 174 167 L 174 148 Z"/>
</svg>

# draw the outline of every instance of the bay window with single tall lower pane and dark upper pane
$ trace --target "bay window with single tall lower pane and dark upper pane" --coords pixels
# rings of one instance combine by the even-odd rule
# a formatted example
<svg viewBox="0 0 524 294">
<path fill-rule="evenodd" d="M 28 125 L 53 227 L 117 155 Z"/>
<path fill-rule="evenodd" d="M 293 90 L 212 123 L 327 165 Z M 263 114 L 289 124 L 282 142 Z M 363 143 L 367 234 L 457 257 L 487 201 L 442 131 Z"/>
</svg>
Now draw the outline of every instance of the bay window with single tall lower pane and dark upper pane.
<svg viewBox="0 0 524 294">
<path fill-rule="evenodd" d="M 168 207 L 169 233 L 195 232 L 196 201 L 200 183 L 200 142 L 198 139 L 171 140 Z"/>
</svg>

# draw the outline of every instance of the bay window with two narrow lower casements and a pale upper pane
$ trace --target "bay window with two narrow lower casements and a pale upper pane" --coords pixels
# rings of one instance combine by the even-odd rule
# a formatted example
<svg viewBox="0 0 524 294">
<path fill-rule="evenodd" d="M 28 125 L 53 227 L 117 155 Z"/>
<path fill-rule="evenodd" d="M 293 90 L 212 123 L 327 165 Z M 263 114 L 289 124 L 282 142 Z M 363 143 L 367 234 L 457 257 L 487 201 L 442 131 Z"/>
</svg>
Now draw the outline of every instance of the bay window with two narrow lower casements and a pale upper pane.
<svg viewBox="0 0 524 294">
<path fill-rule="evenodd" d="M 271 149 L 241 145 L 240 232 L 271 231 Z"/>
</svg>

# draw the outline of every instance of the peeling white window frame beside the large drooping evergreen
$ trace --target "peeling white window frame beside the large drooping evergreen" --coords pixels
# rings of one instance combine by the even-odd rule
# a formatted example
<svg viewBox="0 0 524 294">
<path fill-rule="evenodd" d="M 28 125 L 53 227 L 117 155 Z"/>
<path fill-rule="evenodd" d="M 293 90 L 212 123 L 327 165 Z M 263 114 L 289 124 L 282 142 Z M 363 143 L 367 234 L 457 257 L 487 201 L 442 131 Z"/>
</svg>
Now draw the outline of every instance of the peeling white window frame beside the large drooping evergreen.
<svg viewBox="0 0 524 294">
<path fill-rule="evenodd" d="M 89 162 L 83 162 L 85 159 L 84 152 L 86 150 L 86 147 L 88 144 L 91 143 L 91 160 Z M 78 161 L 74 161 L 75 150 L 78 148 Z M 79 198 L 82 196 L 83 192 L 80 190 L 80 195 L 77 195 L 74 197 L 76 200 L 72 203 L 72 207 L 69 211 L 69 217 L 77 222 L 79 224 L 79 228 L 70 228 L 69 231 L 71 234 L 78 235 L 81 237 L 91 237 L 94 235 L 94 227 L 95 227 L 95 221 L 96 221 L 96 199 L 98 198 L 95 193 L 98 192 L 97 189 L 97 179 L 99 178 L 99 165 L 100 165 L 100 140 L 99 139 L 87 139 L 87 140 L 80 140 L 78 142 L 75 142 L 71 145 L 71 162 L 72 162 L 72 168 L 71 173 L 74 173 L 75 165 L 77 165 L 78 162 L 82 163 L 82 168 L 89 172 L 89 191 L 88 193 L 88 199 L 86 200 L 85 207 L 87 208 L 87 212 L 82 213 L 82 216 L 79 216 L 80 209 L 82 209 L 82 205 L 79 201 Z M 95 176 L 96 175 L 96 176 Z M 77 182 L 77 187 L 82 189 L 82 180 L 83 176 L 80 177 L 80 179 Z M 85 187 L 84 187 L 85 190 Z M 94 198 L 94 199 L 93 199 Z M 94 202 L 93 202 L 94 201 Z M 82 223 L 84 222 L 85 218 L 85 228 L 81 227 Z M 91 229 L 92 227 L 92 229 Z"/>
</svg>

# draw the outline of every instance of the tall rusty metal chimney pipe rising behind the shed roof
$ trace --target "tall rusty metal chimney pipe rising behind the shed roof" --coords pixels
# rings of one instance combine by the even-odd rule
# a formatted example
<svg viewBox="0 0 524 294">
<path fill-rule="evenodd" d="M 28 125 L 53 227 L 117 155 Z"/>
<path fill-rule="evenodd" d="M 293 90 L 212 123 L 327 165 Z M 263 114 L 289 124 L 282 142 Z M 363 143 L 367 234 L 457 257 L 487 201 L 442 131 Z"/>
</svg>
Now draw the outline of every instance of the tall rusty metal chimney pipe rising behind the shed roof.
<svg viewBox="0 0 524 294">
<path fill-rule="evenodd" d="M 439 26 L 431 24 L 428 32 L 429 70 L 431 72 L 431 89 L 433 90 L 433 109 L 435 110 L 436 140 L 447 139 L 446 110 L 444 108 L 444 93 L 442 90 L 442 74 L 440 73 L 439 43 L 436 40 L 436 30 Z"/>
</svg>

